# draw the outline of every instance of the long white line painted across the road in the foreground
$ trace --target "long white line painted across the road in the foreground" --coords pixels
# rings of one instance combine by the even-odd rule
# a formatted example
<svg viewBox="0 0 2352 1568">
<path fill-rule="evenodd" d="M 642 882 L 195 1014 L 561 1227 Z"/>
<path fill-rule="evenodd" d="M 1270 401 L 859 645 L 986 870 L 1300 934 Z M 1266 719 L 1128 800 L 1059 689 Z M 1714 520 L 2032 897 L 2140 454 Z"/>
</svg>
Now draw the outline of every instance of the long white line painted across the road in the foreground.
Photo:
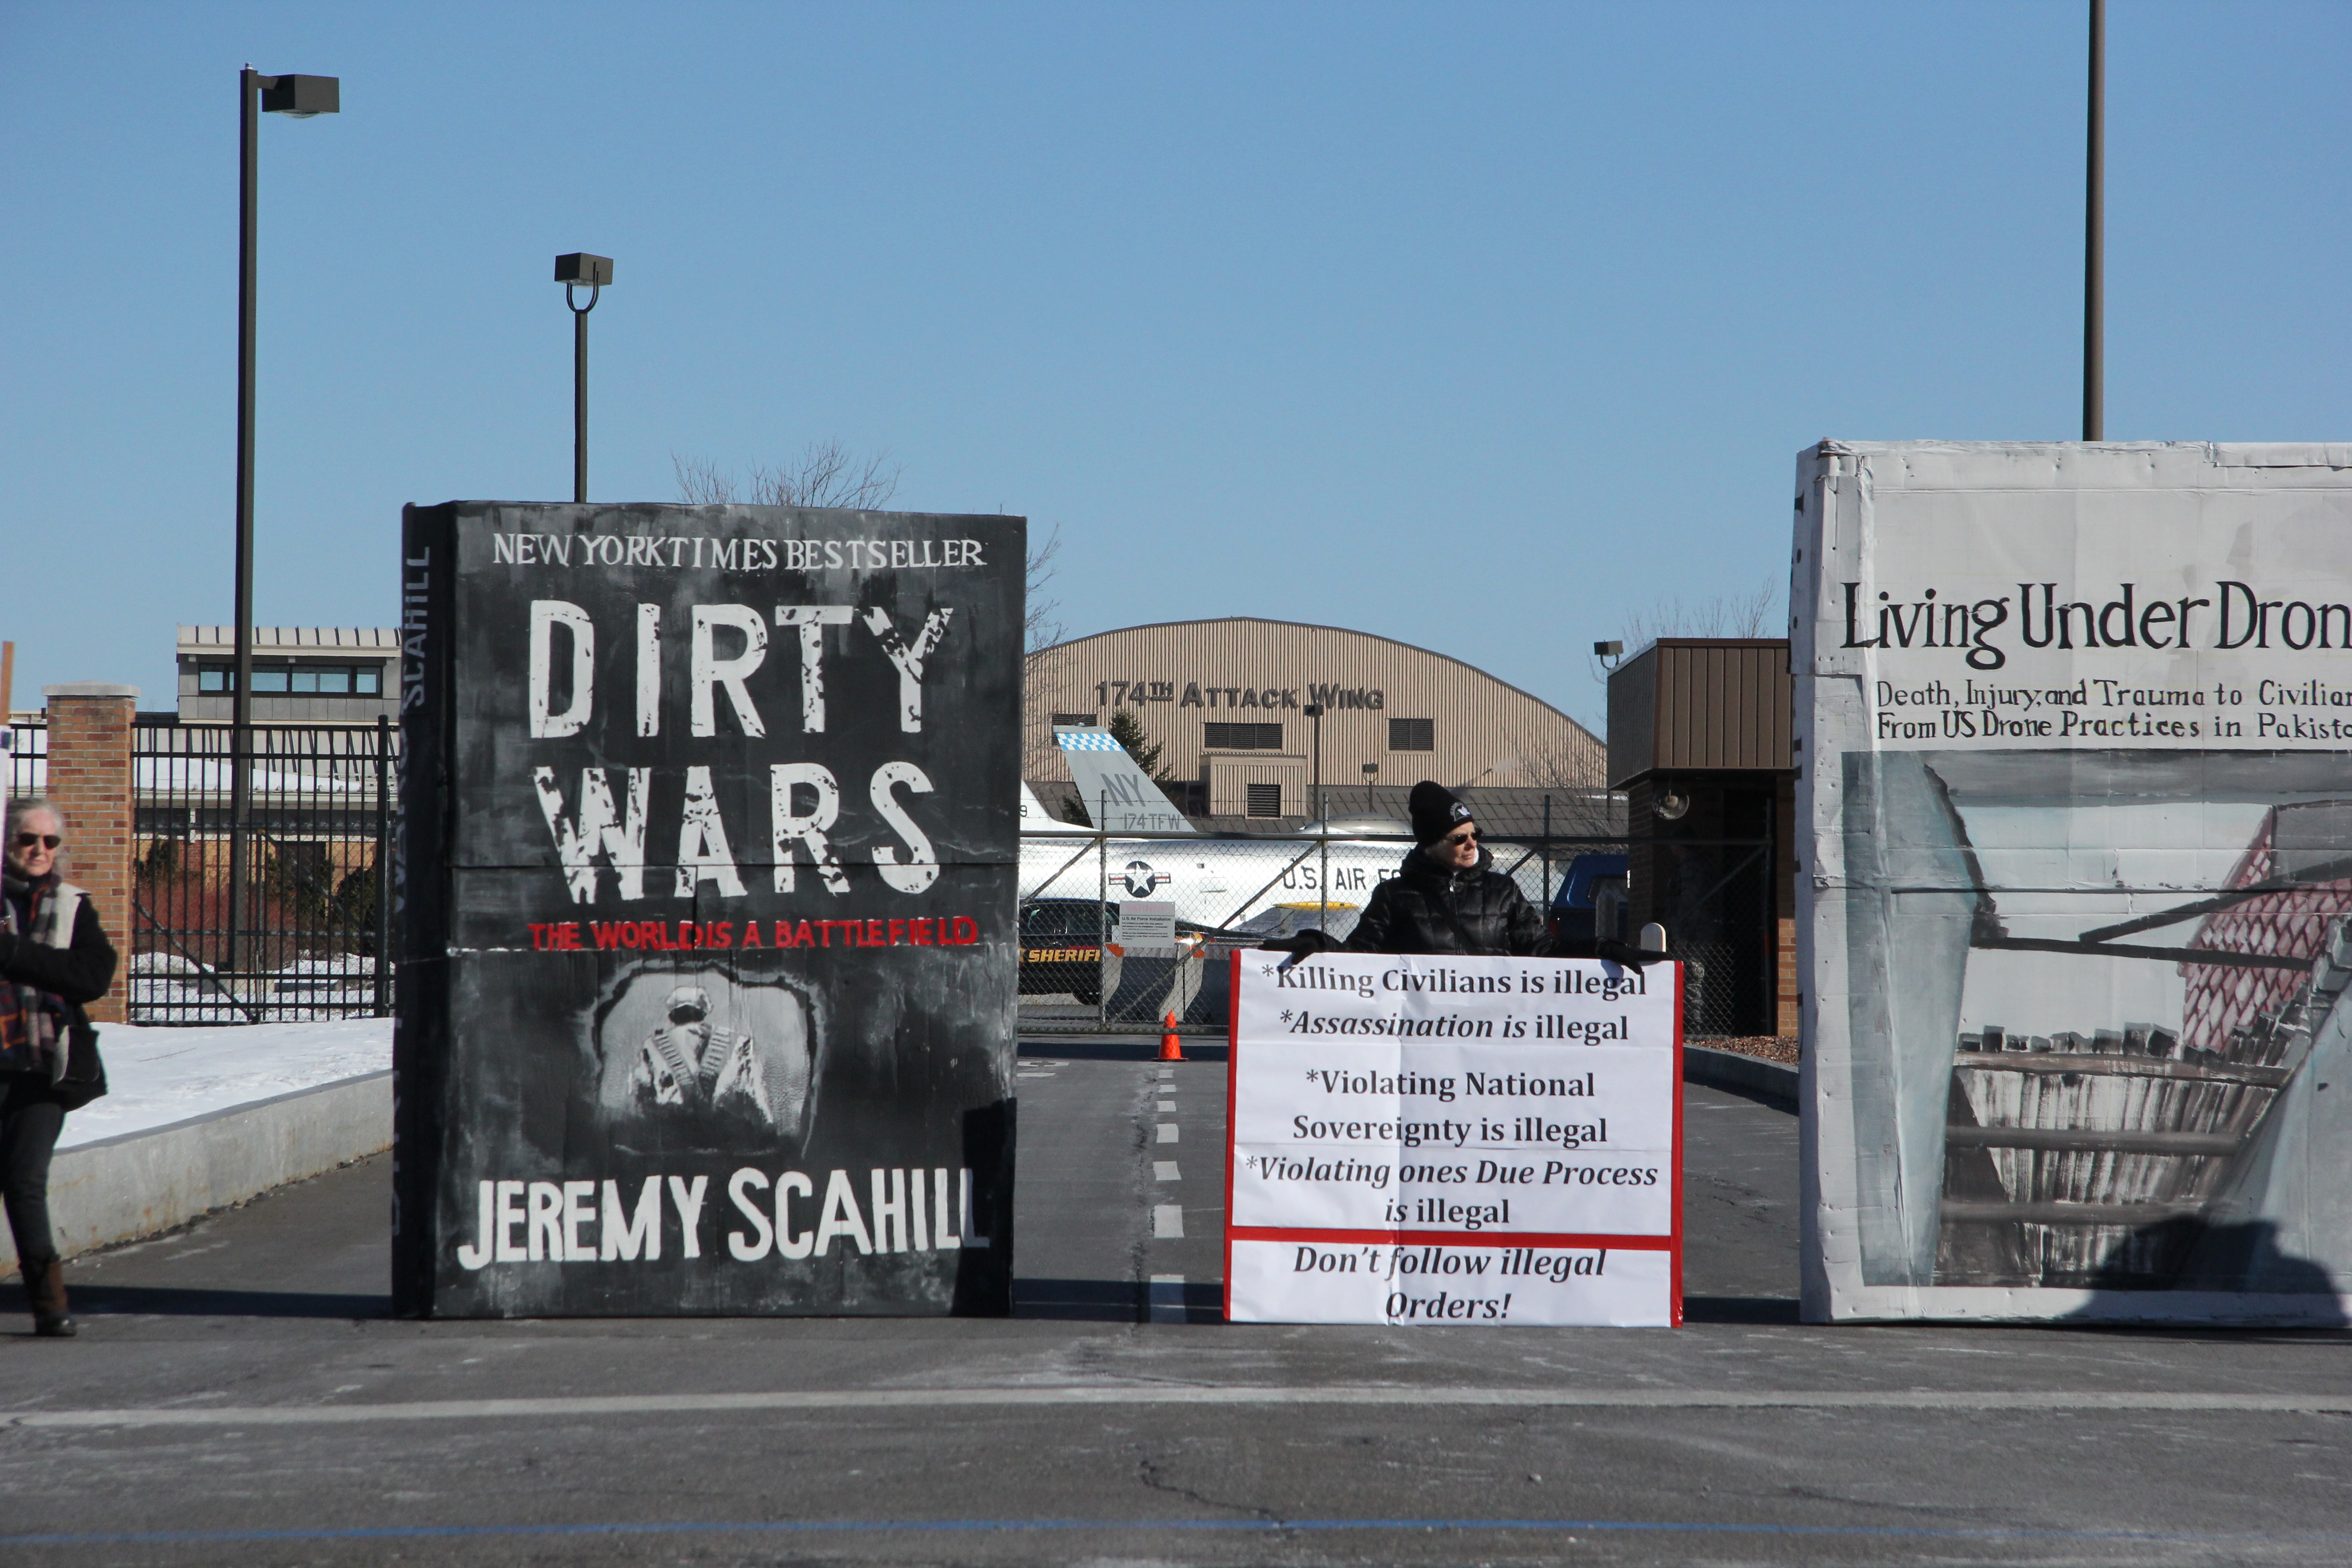
<svg viewBox="0 0 2352 1568">
<path fill-rule="evenodd" d="M 1160 1286 L 1181 1276 L 1152 1276 Z M 1181 1293 L 1178 1293 L 1181 1300 Z M 2159 1410 L 2176 1415 L 2352 1415 L 2347 1394 L 2180 1394 L 2107 1389 L 1534 1389 L 1409 1385 L 1169 1385 L 776 1389 L 762 1394 L 576 1394 L 423 1399 L 358 1406 L 12 1410 L 9 1427 L 348 1427 L 395 1420 L 576 1420 L 590 1415 L 717 1415 L 729 1410 L 934 1410 L 1051 1406 L 1491 1406 L 1559 1410 Z"/>
</svg>

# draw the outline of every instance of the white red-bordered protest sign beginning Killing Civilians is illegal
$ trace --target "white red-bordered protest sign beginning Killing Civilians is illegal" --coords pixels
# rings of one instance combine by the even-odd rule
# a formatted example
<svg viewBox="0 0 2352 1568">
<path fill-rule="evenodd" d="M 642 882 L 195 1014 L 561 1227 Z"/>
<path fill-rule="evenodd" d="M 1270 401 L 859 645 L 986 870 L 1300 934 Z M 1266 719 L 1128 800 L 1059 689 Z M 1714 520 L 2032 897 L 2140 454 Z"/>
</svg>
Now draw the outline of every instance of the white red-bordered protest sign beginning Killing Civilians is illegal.
<svg viewBox="0 0 2352 1568">
<path fill-rule="evenodd" d="M 1679 1324 L 1675 976 L 1232 954 L 1225 1316 Z"/>
</svg>

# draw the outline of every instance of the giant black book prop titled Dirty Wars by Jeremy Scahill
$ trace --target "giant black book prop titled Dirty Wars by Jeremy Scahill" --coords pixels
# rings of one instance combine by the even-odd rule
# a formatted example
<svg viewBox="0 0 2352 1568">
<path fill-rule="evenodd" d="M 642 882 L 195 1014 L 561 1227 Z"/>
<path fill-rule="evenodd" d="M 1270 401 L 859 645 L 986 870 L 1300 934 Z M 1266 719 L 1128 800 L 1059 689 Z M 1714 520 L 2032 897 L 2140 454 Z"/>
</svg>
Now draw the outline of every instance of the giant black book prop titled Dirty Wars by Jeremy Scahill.
<svg viewBox="0 0 2352 1568">
<path fill-rule="evenodd" d="M 1023 522 L 409 508 L 405 1314 L 1007 1312 Z"/>
</svg>

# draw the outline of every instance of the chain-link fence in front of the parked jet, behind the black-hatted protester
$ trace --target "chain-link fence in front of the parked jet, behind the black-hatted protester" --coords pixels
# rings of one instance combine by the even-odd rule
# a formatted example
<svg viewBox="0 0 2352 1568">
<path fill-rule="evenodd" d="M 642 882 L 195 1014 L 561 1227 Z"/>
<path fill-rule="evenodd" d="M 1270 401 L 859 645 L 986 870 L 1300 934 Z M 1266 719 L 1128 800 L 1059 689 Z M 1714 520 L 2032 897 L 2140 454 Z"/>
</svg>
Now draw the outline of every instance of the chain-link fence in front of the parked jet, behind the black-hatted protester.
<svg viewBox="0 0 2352 1568">
<path fill-rule="evenodd" d="M 1625 839 L 1486 849 L 1559 933 L 1625 936 Z M 1023 835 L 1021 1027 L 1223 1032 L 1228 954 L 1305 929 L 1345 940 L 1411 851 L 1406 837 Z M 1152 905 L 1171 905 L 1174 929 Z"/>
</svg>

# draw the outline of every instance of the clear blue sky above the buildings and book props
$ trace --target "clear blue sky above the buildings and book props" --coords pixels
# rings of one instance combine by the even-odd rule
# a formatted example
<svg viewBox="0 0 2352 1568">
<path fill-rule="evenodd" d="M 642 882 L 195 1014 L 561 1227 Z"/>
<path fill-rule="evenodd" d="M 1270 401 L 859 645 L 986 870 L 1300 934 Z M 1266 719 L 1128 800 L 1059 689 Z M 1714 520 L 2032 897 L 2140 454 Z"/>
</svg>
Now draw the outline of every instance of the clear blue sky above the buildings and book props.
<svg viewBox="0 0 2352 1568">
<path fill-rule="evenodd" d="M 2345 5 L 2110 16 L 2107 433 L 2352 430 Z M 0 5 L 0 635 L 169 705 L 230 618 L 235 71 L 261 623 L 405 501 L 840 440 L 1063 531 L 1073 635 L 1327 621 L 1599 719 L 1785 583 L 1797 447 L 2079 433 L 2084 5 Z"/>
</svg>

